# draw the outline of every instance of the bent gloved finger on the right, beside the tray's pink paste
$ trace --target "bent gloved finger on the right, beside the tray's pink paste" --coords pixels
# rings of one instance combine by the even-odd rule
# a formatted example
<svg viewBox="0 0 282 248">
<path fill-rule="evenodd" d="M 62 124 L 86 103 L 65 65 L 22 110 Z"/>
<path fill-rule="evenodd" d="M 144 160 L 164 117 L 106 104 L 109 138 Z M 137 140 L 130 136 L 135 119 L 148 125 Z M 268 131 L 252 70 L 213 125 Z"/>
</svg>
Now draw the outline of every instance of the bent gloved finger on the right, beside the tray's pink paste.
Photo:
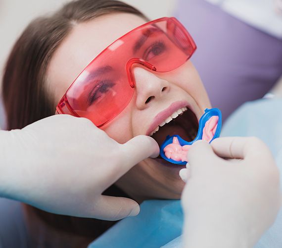
<svg viewBox="0 0 282 248">
<path fill-rule="evenodd" d="M 255 137 L 223 137 L 214 139 L 211 146 L 223 158 L 244 159 L 258 152 L 262 141 Z"/>
</svg>

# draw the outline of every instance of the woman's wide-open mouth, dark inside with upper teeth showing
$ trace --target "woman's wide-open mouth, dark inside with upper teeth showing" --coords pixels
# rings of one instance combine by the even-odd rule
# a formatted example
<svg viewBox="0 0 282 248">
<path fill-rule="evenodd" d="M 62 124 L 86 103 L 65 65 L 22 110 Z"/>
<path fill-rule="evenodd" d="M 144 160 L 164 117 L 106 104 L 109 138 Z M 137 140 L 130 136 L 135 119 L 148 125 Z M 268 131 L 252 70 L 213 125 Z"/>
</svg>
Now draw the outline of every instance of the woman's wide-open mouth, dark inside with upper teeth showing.
<svg viewBox="0 0 282 248">
<path fill-rule="evenodd" d="M 179 135 L 186 141 L 195 139 L 199 128 L 196 115 L 188 107 L 183 107 L 174 112 L 164 122 L 153 130 L 150 136 L 155 139 L 159 146 L 164 142 L 167 135 Z M 159 158 L 161 158 L 159 156 Z"/>
</svg>

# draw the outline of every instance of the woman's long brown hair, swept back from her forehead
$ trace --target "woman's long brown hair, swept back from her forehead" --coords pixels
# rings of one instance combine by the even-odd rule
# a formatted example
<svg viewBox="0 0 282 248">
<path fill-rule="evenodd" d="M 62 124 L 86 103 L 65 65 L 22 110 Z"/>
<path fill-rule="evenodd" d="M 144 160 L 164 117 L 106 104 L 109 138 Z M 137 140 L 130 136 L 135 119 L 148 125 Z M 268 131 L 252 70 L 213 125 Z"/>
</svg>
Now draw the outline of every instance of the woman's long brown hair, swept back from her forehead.
<svg viewBox="0 0 282 248">
<path fill-rule="evenodd" d="M 44 87 L 52 55 L 76 23 L 113 12 L 133 13 L 147 20 L 139 10 L 117 0 L 76 0 L 67 3 L 51 16 L 40 17 L 28 25 L 16 41 L 4 69 L 2 95 L 7 129 L 22 128 L 53 115 L 52 99 Z M 110 195 L 124 195 L 115 186 L 108 190 Z M 42 228 L 31 225 L 32 222 L 40 222 L 40 225 L 44 223 L 46 229 L 52 228 L 48 230 L 49 235 L 53 232 L 51 237 L 45 234 L 45 239 L 34 243 L 36 247 L 83 247 L 113 224 L 50 214 L 30 206 L 25 208 L 33 236 L 42 237 Z M 55 236 L 58 241 L 55 241 Z M 52 242 L 48 244 L 48 240 Z"/>
</svg>

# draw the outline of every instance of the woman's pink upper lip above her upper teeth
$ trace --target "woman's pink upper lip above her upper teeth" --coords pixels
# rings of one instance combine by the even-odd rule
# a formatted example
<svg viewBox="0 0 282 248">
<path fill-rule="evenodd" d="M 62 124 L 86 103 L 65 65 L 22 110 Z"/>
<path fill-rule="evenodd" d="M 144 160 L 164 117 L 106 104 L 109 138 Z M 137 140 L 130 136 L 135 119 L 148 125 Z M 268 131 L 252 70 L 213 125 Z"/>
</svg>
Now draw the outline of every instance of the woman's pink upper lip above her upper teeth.
<svg viewBox="0 0 282 248">
<path fill-rule="evenodd" d="M 164 122 L 168 117 L 170 117 L 174 112 L 176 112 L 177 110 L 183 108 L 183 107 L 188 107 L 189 103 L 187 101 L 177 101 L 172 103 L 167 109 L 161 111 L 160 113 L 158 113 L 154 120 L 152 121 L 152 123 L 150 124 L 149 128 L 146 131 L 146 135 L 149 135 L 153 130 L 155 130 L 157 128 L 157 126 L 159 124 L 161 124 L 162 122 Z"/>
</svg>

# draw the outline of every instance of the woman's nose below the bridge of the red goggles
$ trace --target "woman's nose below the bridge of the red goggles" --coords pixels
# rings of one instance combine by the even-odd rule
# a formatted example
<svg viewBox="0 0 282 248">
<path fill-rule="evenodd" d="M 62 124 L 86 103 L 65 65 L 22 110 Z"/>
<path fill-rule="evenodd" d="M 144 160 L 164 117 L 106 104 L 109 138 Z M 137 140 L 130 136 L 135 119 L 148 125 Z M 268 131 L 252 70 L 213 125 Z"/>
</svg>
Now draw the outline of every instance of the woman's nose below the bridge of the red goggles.
<svg viewBox="0 0 282 248">
<path fill-rule="evenodd" d="M 133 76 L 137 92 L 136 105 L 140 110 L 147 108 L 149 103 L 162 99 L 170 90 L 168 81 L 142 67 L 135 66 Z"/>
</svg>

